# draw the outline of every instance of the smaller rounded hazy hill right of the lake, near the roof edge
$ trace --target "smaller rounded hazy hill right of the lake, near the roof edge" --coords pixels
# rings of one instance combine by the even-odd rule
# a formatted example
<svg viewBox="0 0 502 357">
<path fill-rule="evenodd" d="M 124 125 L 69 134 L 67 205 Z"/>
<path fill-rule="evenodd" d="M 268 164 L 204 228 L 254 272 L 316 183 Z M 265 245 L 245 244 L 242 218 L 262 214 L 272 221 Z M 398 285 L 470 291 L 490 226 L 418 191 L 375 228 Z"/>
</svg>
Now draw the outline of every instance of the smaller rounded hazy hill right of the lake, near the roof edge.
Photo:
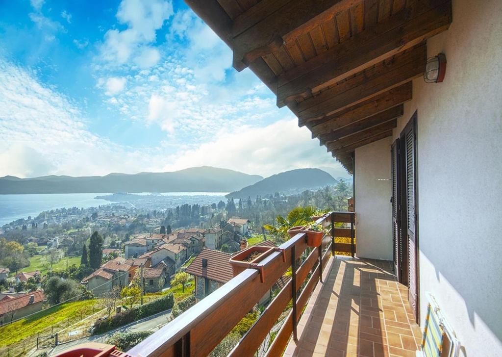
<svg viewBox="0 0 502 357">
<path fill-rule="evenodd" d="M 306 189 L 315 189 L 335 185 L 337 181 L 327 172 L 319 169 L 297 169 L 272 175 L 253 185 L 231 192 L 227 198 L 247 198 L 265 196 L 276 192 L 294 193 Z"/>
</svg>

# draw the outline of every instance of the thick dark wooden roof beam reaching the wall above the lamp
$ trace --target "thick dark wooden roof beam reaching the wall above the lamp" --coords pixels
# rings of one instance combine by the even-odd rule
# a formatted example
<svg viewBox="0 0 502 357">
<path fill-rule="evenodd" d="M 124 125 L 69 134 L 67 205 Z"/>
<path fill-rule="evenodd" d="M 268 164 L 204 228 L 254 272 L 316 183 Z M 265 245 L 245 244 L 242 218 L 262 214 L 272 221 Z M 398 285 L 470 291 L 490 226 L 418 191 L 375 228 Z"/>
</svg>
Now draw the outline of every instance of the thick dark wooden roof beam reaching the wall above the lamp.
<svg viewBox="0 0 502 357">
<path fill-rule="evenodd" d="M 446 3 L 444 3 L 446 1 Z M 285 72 L 278 79 L 277 105 L 308 98 L 364 68 L 370 67 L 446 30 L 451 21 L 451 0 L 431 2 L 410 19 L 408 9 L 353 36 L 328 51 Z"/>
</svg>

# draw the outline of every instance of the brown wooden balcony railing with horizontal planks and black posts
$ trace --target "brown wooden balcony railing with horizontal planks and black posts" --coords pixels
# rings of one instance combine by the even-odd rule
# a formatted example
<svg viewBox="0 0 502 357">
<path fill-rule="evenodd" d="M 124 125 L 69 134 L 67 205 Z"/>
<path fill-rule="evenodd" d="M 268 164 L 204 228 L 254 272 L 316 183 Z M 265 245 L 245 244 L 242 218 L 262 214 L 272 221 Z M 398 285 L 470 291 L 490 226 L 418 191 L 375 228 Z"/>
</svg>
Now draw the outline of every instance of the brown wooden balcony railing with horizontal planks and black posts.
<svg viewBox="0 0 502 357">
<path fill-rule="evenodd" d="M 296 266 L 297 262 L 308 248 L 305 233 L 298 233 L 281 245 L 285 261 L 281 252 L 274 252 L 259 263 L 264 271 L 263 283 L 260 282 L 259 270 L 246 269 L 127 354 L 142 357 L 207 355 L 291 266 L 292 279 L 229 353 L 230 356 L 253 355 L 292 300 L 293 309 L 267 351 L 267 356 L 281 355 L 292 333 L 296 338 L 296 323 L 317 282 L 322 279 L 322 267 L 331 254 L 335 251 L 354 254 L 354 214 L 330 212 L 318 219 L 318 223 L 330 228 L 331 236 L 326 235 L 321 247 L 312 249 L 300 266 Z M 352 224 L 350 228 L 337 228 L 337 222 Z M 351 243 L 335 244 L 335 236 L 350 237 Z"/>
</svg>

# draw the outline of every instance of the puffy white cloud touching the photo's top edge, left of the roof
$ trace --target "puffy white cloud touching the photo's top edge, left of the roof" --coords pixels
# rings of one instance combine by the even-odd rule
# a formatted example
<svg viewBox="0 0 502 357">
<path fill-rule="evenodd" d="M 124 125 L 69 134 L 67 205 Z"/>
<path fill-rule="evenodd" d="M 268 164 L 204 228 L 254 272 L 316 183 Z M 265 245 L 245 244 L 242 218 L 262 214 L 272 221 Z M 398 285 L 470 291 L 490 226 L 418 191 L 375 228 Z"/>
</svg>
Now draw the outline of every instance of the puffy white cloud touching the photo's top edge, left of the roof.
<svg viewBox="0 0 502 357">
<path fill-rule="evenodd" d="M 153 66 L 160 55 L 158 52 L 148 51 L 149 47 L 156 41 L 156 31 L 172 15 L 173 6 L 170 1 L 122 0 L 116 17 L 119 23 L 126 24 L 128 28 L 106 32 L 100 60 L 109 66 L 123 65 L 135 55 L 138 65 Z"/>
</svg>

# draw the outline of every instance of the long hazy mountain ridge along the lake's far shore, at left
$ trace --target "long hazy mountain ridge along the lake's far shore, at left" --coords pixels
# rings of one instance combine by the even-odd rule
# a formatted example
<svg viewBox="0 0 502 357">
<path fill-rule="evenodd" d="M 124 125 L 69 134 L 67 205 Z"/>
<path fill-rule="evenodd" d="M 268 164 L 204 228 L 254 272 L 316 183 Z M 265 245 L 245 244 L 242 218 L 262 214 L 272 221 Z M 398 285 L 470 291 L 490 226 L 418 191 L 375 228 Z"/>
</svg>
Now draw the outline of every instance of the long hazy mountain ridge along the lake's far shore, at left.
<svg viewBox="0 0 502 357">
<path fill-rule="evenodd" d="M 0 177 L 0 194 L 101 192 L 229 192 L 263 177 L 216 167 L 192 167 L 174 172 L 111 173 L 106 176 Z"/>
</svg>

